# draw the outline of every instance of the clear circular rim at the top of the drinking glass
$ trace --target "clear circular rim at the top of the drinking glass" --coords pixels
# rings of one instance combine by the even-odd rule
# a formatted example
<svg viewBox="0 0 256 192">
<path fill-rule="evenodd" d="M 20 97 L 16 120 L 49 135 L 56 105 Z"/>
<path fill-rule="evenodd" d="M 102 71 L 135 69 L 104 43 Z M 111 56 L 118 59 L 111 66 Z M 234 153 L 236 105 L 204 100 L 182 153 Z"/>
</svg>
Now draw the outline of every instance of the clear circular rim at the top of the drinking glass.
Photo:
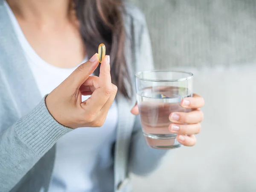
<svg viewBox="0 0 256 192">
<path fill-rule="evenodd" d="M 175 72 L 175 73 L 186 73 L 188 74 L 189 76 L 187 77 L 183 77 L 183 78 L 180 78 L 180 79 L 145 79 L 145 78 L 141 78 L 139 77 L 140 74 L 142 73 L 152 73 L 152 72 Z M 193 73 L 191 72 L 185 72 L 185 71 L 175 71 L 175 70 L 148 70 L 148 71 L 140 71 L 140 72 L 137 72 L 135 74 L 135 78 L 136 79 L 140 79 L 140 80 L 143 80 L 143 81 L 154 81 L 154 82 L 172 82 L 172 81 L 185 81 L 185 80 L 189 80 L 189 79 L 192 79 L 193 77 Z"/>
</svg>

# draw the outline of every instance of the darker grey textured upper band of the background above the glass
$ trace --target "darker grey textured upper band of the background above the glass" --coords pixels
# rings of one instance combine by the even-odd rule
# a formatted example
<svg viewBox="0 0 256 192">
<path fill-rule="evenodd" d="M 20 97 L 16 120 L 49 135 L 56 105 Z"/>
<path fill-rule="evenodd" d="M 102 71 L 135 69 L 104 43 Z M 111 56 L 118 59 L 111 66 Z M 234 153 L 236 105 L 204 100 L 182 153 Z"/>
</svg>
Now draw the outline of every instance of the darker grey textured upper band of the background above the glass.
<svg viewBox="0 0 256 192">
<path fill-rule="evenodd" d="M 256 62 L 255 0 L 131 0 L 145 14 L 157 68 Z"/>
</svg>

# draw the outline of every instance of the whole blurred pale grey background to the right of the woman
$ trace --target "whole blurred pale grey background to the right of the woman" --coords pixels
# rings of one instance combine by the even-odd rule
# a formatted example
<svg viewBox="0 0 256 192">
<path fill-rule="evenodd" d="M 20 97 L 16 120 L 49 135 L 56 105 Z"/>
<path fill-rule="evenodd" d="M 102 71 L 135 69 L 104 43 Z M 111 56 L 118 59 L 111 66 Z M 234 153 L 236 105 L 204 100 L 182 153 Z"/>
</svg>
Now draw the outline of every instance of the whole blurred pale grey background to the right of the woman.
<svg viewBox="0 0 256 192">
<path fill-rule="evenodd" d="M 135 192 L 256 191 L 256 1 L 131 0 L 146 15 L 156 68 L 191 71 L 204 96 L 198 144 L 169 151 Z"/>
</svg>

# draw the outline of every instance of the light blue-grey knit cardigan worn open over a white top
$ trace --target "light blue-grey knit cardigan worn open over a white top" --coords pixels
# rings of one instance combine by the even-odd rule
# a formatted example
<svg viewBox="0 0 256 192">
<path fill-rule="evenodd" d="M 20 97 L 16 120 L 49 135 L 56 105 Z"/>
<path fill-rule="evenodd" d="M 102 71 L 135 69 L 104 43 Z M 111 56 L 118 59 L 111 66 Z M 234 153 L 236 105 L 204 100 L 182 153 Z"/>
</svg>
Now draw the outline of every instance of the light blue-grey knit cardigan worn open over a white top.
<svg viewBox="0 0 256 192">
<path fill-rule="evenodd" d="M 145 18 L 131 5 L 124 16 L 128 73 L 153 67 Z M 116 96 L 119 120 L 114 145 L 114 189 L 130 192 L 128 174 L 151 172 L 166 151 L 146 145 L 130 102 Z M 55 143 L 72 129 L 49 114 L 11 21 L 0 0 L 0 192 L 47 192 L 52 177 Z"/>
</svg>

